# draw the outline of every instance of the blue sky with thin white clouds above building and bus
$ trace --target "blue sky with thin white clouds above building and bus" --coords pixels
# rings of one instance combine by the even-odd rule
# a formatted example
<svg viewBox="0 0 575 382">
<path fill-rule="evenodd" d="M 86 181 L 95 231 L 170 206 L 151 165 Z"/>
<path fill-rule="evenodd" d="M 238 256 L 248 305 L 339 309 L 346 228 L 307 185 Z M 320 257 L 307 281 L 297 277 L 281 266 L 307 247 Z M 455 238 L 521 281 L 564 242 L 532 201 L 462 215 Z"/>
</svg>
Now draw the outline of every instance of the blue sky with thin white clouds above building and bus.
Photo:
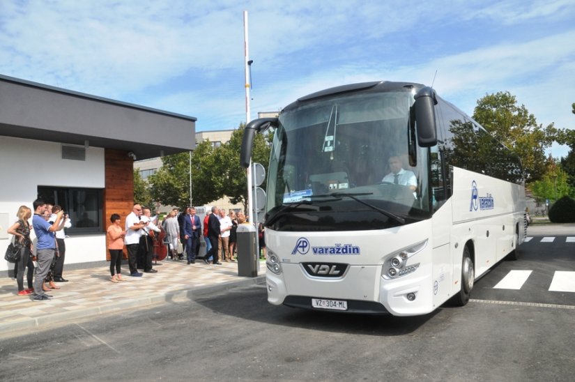
<svg viewBox="0 0 575 382">
<path fill-rule="evenodd" d="M 237 128 L 244 10 L 252 119 L 331 86 L 431 85 L 437 71 L 438 94 L 468 114 L 509 91 L 538 123 L 575 128 L 572 0 L 0 0 L 0 74 Z"/>
</svg>

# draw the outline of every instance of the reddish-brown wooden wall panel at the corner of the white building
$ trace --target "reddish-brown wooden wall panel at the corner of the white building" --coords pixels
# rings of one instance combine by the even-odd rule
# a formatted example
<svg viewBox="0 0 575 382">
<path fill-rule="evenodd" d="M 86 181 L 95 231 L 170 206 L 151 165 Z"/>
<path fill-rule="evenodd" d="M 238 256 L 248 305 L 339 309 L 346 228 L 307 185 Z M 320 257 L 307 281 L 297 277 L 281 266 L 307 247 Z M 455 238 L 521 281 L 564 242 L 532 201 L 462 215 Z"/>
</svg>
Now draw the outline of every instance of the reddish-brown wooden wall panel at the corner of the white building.
<svg viewBox="0 0 575 382">
<path fill-rule="evenodd" d="M 122 219 L 123 227 L 125 217 L 132 212 L 132 206 L 134 206 L 134 161 L 128 157 L 128 151 L 105 149 L 105 181 L 104 226 L 108 229 L 112 224 L 110 215 L 117 213 Z M 126 258 L 125 250 L 124 258 Z M 107 250 L 106 259 L 108 261 L 110 259 Z"/>
</svg>

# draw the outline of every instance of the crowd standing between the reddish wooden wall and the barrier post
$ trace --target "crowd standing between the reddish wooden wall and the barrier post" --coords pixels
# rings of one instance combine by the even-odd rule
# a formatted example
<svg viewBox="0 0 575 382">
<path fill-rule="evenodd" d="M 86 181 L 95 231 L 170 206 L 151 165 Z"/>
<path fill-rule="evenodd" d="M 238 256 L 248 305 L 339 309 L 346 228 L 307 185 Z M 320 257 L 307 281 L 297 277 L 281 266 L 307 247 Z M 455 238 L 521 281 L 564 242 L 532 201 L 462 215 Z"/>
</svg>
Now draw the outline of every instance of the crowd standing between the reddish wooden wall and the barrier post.
<svg viewBox="0 0 575 382">
<path fill-rule="evenodd" d="M 222 261 L 235 261 L 236 229 L 238 224 L 245 223 L 243 213 L 229 211 L 226 215 L 223 208 L 212 207 L 204 218 L 203 227 L 194 207 L 187 207 L 182 213 L 178 208 L 171 210 L 165 219 L 159 223 L 156 217 L 151 217 L 150 208 L 134 204 L 128 214 L 125 225 L 121 225 L 121 217 L 117 213 L 110 216 L 112 224 L 107 229 L 108 250 L 110 253 L 110 280 L 121 282 L 121 263 L 123 246 L 128 252 L 128 267 L 130 276 L 141 277 L 139 269 L 144 273 L 158 272 L 152 266 L 153 237 L 160 234 L 162 227 L 169 257 L 174 260 L 183 259 L 185 253 L 187 264 L 193 264 L 199 259 L 200 236 L 206 241 L 205 263 L 222 265 Z M 181 244 L 181 252 L 178 247 Z"/>
</svg>

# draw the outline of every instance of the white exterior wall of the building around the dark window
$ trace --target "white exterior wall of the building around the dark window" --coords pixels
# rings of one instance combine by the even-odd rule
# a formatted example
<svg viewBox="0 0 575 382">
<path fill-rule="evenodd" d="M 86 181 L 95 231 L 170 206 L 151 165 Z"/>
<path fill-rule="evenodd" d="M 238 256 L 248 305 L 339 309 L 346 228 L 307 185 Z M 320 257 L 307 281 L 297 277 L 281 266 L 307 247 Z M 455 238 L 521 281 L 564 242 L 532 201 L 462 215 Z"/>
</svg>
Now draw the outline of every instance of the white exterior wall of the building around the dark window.
<svg viewBox="0 0 575 382">
<path fill-rule="evenodd" d="M 38 185 L 104 188 L 104 149 L 88 148 L 85 161 L 66 160 L 61 158 L 59 143 L 0 136 L 0 182 L 0 213 L 8 213 L 11 225 L 17 220 L 20 206 L 33 209 Z M 0 227 L 0 231 L 6 232 L 8 227 Z M 0 239 L 0 254 L 6 251 L 9 242 Z M 67 238 L 66 263 L 105 260 L 105 246 L 103 233 Z M 2 257 L 0 271 L 8 268 L 13 265 Z"/>
</svg>

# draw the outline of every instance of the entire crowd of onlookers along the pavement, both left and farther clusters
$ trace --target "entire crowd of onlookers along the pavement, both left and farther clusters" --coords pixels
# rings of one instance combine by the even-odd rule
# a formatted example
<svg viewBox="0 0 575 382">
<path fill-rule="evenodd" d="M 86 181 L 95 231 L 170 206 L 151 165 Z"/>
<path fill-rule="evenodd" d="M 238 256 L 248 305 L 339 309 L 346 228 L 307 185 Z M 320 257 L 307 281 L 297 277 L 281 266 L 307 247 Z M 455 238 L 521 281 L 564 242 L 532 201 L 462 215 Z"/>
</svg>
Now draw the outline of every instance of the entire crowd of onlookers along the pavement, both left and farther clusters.
<svg viewBox="0 0 575 382">
<path fill-rule="evenodd" d="M 187 207 L 179 214 L 178 209 L 174 208 L 158 224 L 151 217 L 150 208 L 134 204 L 123 227 L 118 213 L 110 216 L 110 222 L 112 224 L 107 229 L 110 281 L 117 283 L 125 280 L 121 274 L 124 245 L 128 252 L 130 276 L 141 277 L 139 269 L 144 270 L 144 273 L 157 272 L 152 266 L 153 237 L 160 234 L 160 225 L 166 234 L 165 243 L 170 257 L 174 260 L 181 259 L 185 253 L 187 263 L 195 263 L 199 258 L 200 235 L 203 235 L 207 251 L 203 257 L 205 263 L 222 265 L 221 261 L 236 261 L 236 229 L 239 224 L 246 222 L 246 217 L 242 212 L 236 214 L 231 210 L 226 215 L 223 208 L 212 207 L 202 226 L 194 207 Z M 18 295 L 33 295 L 34 301 L 49 300 L 52 295 L 45 292 L 60 289 L 56 282 L 68 282 L 62 276 L 66 255 L 64 229 L 71 225 L 70 218 L 61 206 L 36 199 L 33 201 L 33 215 L 31 208 L 20 206 L 17 221 L 8 228 L 8 234 L 14 236 L 14 244 L 20 251 L 20 258 L 14 268 Z M 32 231 L 36 235 L 36 248 L 31 239 Z M 183 248 L 182 254 L 178 253 L 179 243 Z M 28 288 L 24 288 L 24 273 Z"/>
</svg>

